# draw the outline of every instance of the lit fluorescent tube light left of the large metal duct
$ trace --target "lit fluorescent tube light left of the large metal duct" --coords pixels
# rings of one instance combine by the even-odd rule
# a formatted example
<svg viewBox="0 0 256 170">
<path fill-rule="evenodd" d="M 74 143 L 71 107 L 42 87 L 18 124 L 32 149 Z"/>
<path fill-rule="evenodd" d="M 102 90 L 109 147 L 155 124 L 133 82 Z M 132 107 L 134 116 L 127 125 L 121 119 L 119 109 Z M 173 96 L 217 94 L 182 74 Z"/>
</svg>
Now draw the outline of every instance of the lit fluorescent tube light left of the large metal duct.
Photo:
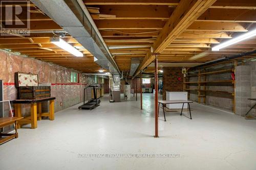
<svg viewBox="0 0 256 170">
<path fill-rule="evenodd" d="M 83 57 L 81 52 L 60 37 L 51 38 L 51 42 L 76 57 Z"/>
</svg>

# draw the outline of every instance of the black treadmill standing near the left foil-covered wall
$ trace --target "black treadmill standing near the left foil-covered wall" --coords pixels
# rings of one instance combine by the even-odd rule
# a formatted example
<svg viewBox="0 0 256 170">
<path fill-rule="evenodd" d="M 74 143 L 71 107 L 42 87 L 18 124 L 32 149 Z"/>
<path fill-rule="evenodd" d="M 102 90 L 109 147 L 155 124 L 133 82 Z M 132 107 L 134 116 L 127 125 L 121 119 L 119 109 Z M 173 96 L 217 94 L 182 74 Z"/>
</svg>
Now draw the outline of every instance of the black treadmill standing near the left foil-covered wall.
<svg viewBox="0 0 256 170">
<path fill-rule="evenodd" d="M 90 99 L 87 103 L 86 103 L 86 91 L 88 88 L 93 88 L 93 96 L 94 99 Z M 78 109 L 82 109 L 82 110 L 92 110 L 96 107 L 99 106 L 100 104 L 100 100 L 99 98 L 97 99 L 97 89 L 99 88 L 98 85 L 90 85 L 86 88 L 83 89 L 83 105 L 79 106 Z M 87 93 L 88 94 L 88 93 Z"/>
</svg>

